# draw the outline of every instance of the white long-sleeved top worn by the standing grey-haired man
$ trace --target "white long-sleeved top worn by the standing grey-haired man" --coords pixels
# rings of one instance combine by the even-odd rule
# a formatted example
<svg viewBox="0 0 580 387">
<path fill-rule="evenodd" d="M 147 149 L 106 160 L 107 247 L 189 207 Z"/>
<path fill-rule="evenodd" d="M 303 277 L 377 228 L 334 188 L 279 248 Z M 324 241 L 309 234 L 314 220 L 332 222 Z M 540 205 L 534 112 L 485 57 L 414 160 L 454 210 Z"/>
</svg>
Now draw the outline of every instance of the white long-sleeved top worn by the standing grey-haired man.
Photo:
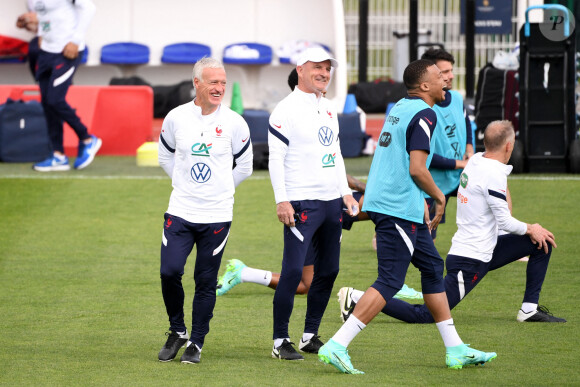
<svg viewBox="0 0 580 387">
<path fill-rule="evenodd" d="M 192 223 L 230 222 L 235 187 L 252 174 L 252 164 L 248 125 L 223 105 L 204 116 L 191 101 L 163 120 L 159 165 L 172 178 L 171 215 Z"/>
</svg>

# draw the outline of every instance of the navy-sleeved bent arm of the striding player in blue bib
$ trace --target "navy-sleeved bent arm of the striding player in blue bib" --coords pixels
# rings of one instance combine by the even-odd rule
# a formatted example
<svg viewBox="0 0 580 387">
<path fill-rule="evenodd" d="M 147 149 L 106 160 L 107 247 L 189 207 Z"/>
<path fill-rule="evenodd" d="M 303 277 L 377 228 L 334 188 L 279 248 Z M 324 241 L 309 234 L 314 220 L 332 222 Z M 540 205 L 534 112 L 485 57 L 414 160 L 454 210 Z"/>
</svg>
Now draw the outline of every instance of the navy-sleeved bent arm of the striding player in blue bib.
<svg viewBox="0 0 580 387">
<path fill-rule="evenodd" d="M 432 109 L 425 109 L 417 113 L 407 128 L 407 152 L 409 153 L 409 174 L 411 178 L 435 201 L 435 217 L 430 228 L 435 229 L 441 221 L 445 211 L 445 195 L 437 187 L 431 173 L 427 169 L 427 157 L 430 152 L 430 142 L 437 115 Z"/>
</svg>

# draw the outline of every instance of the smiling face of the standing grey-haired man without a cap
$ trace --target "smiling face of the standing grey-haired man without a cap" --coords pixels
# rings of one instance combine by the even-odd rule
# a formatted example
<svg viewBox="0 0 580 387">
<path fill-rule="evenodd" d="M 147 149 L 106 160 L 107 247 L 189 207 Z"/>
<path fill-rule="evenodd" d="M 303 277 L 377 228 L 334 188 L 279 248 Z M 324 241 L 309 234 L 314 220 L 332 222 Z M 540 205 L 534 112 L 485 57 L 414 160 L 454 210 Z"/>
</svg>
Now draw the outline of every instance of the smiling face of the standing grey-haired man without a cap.
<svg viewBox="0 0 580 387">
<path fill-rule="evenodd" d="M 201 79 L 194 78 L 196 90 L 195 104 L 201 107 L 203 115 L 213 113 L 222 103 L 226 91 L 226 72 L 223 68 L 203 69 Z"/>
</svg>

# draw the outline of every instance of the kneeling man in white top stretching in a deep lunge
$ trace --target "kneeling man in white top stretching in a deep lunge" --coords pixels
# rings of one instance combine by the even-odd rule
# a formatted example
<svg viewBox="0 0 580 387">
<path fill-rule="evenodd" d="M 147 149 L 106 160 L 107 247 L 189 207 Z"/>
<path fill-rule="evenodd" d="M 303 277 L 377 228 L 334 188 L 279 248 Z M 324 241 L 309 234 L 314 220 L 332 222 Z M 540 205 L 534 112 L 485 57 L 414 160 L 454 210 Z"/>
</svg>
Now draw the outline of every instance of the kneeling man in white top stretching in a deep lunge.
<svg viewBox="0 0 580 387">
<path fill-rule="evenodd" d="M 539 224 L 522 223 L 510 214 L 507 175 L 512 167 L 506 164 L 514 140 L 511 122 L 491 122 L 483 139 L 485 153 L 473 156 L 461 174 L 457 194 L 458 230 L 446 261 L 445 293 L 449 308 L 459 304 L 489 271 L 529 255 L 526 290 L 517 321 L 566 322 L 538 306 L 552 246 L 556 247 L 554 236 Z M 511 234 L 498 236 L 498 229 Z M 348 317 L 354 308 L 356 295 L 352 296 L 352 288 L 342 288 L 340 294 L 341 316 Z M 387 303 L 383 313 L 408 323 L 433 322 L 426 305 L 412 305 L 399 300 Z"/>
</svg>

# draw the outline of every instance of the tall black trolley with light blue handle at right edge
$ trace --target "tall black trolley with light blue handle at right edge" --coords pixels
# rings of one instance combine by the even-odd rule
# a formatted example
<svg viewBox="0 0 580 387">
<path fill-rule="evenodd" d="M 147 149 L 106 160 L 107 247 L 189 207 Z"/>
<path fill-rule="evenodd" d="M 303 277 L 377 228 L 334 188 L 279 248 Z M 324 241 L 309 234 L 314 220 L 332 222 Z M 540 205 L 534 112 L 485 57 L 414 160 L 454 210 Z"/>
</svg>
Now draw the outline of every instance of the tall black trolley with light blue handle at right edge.
<svg viewBox="0 0 580 387">
<path fill-rule="evenodd" d="M 532 9 L 557 16 L 530 23 Z M 530 172 L 580 172 L 580 140 L 576 119 L 576 36 L 570 31 L 568 9 L 539 5 L 526 9 L 520 30 L 519 136 L 512 159 L 522 158 Z M 560 28 L 561 40 L 550 35 Z M 566 28 L 565 28 L 566 27 Z M 546 29 L 550 30 L 546 35 Z"/>
</svg>

